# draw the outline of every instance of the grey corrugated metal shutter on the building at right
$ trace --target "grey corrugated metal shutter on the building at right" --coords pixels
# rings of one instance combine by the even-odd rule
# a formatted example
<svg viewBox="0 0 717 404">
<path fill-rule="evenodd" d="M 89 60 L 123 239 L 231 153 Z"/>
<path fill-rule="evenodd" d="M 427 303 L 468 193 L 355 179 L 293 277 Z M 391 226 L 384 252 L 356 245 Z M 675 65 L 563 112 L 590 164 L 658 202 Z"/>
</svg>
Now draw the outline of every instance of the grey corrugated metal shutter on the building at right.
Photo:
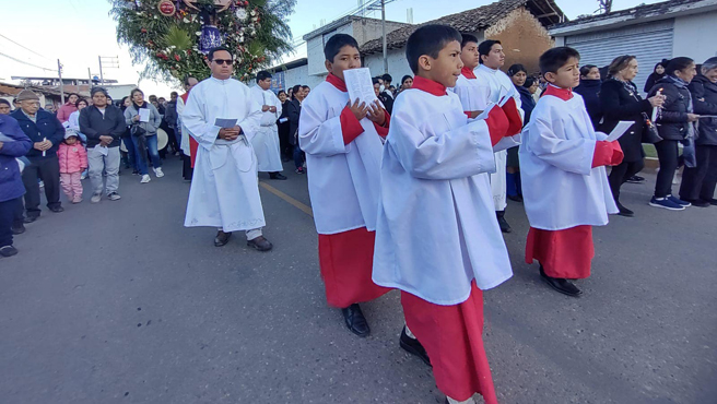
<svg viewBox="0 0 717 404">
<path fill-rule="evenodd" d="M 567 36 L 565 45 L 580 52 L 580 66 L 603 67 L 622 55 L 634 55 L 639 72 L 634 82 L 642 92 L 655 64 L 672 58 L 674 20 L 633 25 L 624 28 Z"/>
</svg>

